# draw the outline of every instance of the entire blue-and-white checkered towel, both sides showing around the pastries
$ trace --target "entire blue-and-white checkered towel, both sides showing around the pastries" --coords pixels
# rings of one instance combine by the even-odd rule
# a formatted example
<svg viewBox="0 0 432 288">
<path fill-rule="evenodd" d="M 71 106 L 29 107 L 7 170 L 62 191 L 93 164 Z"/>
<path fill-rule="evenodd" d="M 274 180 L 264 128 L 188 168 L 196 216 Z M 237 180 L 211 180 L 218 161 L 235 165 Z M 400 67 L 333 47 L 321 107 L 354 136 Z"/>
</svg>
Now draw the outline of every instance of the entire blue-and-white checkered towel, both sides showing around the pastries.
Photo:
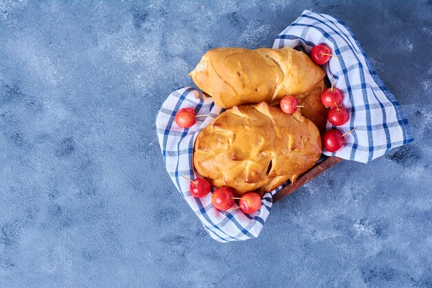
<svg viewBox="0 0 432 288">
<path fill-rule="evenodd" d="M 320 43 L 328 44 L 338 56 L 332 57 L 324 68 L 327 75 L 333 73 L 335 87 L 344 93 L 343 106 L 351 114 L 348 123 L 338 129 L 342 132 L 357 129 L 346 136 L 347 144 L 344 148 L 333 154 L 325 154 L 369 162 L 384 155 L 390 148 L 412 142 L 408 122 L 400 105 L 377 77 L 362 47 L 342 21 L 306 10 L 277 36 L 273 48 L 303 46 L 310 52 L 314 45 Z M 186 107 L 194 108 L 197 115 L 209 114 L 211 117 L 199 117 L 194 126 L 179 128 L 174 122 L 175 113 Z M 213 208 L 211 194 L 204 198 L 194 198 L 189 192 L 189 181 L 183 177 L 199 177 L 193 169 L 193 144 L 199 131 L 221 111 L 211 97 L 206 97 L 194 88 L 180 88 L 168 96 L 156 120 L 166 170 L 215 240 L 230 242 L 256 238 L 270 213 L 272 195 L 284 185 L 266 193 L 262 198 L 261 209 L 247 215 L 240 209 L 230 213 L 218 211 Z M 327 126 L 330 128 L 331 124 Z"/>
</svg>

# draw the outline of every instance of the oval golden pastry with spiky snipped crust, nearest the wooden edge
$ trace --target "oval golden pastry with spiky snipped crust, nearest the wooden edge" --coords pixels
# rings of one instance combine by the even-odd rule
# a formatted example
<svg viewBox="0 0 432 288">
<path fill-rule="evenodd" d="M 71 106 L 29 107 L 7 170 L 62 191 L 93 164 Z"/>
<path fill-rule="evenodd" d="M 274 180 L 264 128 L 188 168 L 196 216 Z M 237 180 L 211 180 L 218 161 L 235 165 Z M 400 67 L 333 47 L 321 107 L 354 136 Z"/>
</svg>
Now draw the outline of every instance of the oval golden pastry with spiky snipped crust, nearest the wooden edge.
<svg viewBox="0 0 432 288">
<path fill-rule="evenodd" d="M 234 106 L 218 115 L 198 135 L 193 163 L 214 186 L 229 186 L 237 195 L 272 191 L 294 182 L 321 155 L 317 126 L 297 111 L 269 106 Z"/>
</svg>

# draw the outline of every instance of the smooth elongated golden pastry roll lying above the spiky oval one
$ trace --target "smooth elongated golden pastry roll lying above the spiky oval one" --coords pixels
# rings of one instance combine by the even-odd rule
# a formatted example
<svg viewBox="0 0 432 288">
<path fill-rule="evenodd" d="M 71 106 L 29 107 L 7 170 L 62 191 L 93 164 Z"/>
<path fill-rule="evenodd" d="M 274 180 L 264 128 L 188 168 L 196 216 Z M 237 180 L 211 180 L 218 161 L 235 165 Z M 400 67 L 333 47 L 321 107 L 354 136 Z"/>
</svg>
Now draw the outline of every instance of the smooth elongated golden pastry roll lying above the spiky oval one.
<svg viewBox="0 0 432 288">
<path fill-rule="evenodd" d="M 222 108 L 268 102 L 308 93 L 326 73 L 292 48 L 216 48 L 189 74 Z"/>
</svg>

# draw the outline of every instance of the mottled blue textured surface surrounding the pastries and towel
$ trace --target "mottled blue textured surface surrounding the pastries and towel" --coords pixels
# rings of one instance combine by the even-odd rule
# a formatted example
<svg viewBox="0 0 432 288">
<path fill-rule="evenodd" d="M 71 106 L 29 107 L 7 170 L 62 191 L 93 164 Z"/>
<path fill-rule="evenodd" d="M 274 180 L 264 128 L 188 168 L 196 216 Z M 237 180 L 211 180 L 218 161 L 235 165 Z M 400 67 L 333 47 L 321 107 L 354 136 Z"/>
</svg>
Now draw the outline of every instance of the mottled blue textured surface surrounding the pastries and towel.
<svg viewBox="0 0 432 288">
<path fill-rule="evenodd" d="M 432 287 L 430 0 L 34 2 L 0 1 L 0 287 Z M 351 27 L 415 142 L 220 244 L 170 182 L 155 116 L 206 50 L 270 47 L 304 9 Z"/>
</svg>

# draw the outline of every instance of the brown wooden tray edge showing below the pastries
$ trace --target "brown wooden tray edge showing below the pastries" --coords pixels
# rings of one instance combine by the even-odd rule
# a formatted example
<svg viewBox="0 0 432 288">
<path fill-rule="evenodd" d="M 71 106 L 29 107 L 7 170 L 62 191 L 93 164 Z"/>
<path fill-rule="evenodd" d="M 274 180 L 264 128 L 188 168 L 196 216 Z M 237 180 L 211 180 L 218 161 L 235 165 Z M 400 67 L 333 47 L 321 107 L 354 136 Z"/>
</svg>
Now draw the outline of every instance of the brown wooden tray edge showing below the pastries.
<svg viewBox="0 0 432 288">
<path fill-rule="evenodd" d="M 307 182 L 311 181 L 313 178 L 317 177 L 327 169 L 331 168 L 331 166 L 342 161 L 342 158 L 339 157 L 328 157 L 326 160 L 316 164 L 311 169 L 309 169 L 306 173 L 297 178 L 297 181 L 294 183 L 288 184 L 288 186 L 284 187 L 280 191 L 278 191 L 275 195 L 273 195 L 273 202 L 277 202 L 284 198 L 286 195 L 291 194 L 295 191 L 295 189 L 303 186 Z"/>
</svg>

